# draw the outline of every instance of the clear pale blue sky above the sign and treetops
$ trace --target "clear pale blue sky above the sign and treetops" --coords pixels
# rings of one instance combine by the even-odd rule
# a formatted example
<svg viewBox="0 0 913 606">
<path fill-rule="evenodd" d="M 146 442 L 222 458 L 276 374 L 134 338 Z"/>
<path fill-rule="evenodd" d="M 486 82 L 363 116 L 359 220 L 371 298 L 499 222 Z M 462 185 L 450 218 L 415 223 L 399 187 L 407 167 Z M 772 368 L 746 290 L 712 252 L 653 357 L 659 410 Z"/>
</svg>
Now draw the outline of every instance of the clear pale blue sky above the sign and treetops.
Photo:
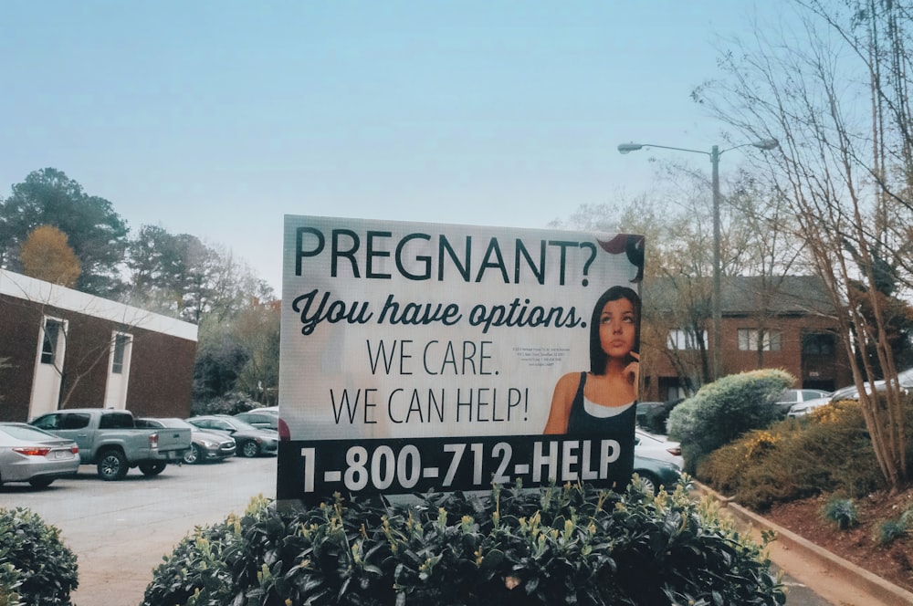
<svg viewBox="0 0 913 606">
<path fill-rule="evenodd" d="M 719 142 L 689 93 L 784 5 L 5 0 L 0 196 L 57 168 L 277 291 L 284 214 L 544 227 Z"/>
</svg>

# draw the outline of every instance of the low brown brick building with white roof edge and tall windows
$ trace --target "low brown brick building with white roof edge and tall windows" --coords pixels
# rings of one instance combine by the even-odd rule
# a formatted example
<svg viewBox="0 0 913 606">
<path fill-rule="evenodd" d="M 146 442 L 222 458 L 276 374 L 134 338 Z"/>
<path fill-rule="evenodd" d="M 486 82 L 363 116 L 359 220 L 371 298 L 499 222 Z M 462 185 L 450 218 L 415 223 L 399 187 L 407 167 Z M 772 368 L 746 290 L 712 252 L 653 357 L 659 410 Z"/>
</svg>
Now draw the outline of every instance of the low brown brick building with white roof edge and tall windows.
<svg viewBox="0 0 913 606">
<path fill-rule="evenodd" d="M 196 326 L 0 269 L 0 421 L 190 413 Z"/>
</svg>

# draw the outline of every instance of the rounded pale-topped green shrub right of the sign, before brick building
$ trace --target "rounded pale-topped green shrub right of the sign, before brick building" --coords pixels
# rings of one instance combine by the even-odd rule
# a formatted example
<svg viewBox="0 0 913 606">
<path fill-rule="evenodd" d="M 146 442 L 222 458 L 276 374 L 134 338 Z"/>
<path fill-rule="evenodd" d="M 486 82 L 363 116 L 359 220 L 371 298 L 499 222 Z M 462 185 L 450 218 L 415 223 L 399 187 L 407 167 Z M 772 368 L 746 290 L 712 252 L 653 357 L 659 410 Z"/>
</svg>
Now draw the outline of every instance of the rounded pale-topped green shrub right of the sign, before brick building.
<svg viewBox="0 0 913 606">
<path fill-rule="evenodd" d="M 730 374 L 708 383 L 669 413 L 669 437 L 681 443 L 685 471 L 695 474 L 700 460 L 752 429 L 781 417 L 773 405 L 795 379 L 786 371 Z"/>
</svg>

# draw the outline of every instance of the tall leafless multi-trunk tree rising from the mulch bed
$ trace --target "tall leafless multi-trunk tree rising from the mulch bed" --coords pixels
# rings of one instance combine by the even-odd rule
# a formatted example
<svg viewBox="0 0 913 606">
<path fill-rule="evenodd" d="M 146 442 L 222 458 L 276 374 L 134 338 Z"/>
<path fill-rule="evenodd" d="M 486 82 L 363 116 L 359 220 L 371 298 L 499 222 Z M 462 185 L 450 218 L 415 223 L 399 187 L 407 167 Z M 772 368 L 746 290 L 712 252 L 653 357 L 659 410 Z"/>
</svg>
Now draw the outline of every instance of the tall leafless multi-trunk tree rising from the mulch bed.
<svg viewBox="0 0 913 606">
<path fill-rule="evenodd" d="M 913 183 L 909 6 L 795 3 L 795 27 L 756 26 L 721 57 L 725 78 L 695 96 L 750 137 L 776 138 L 777 191 L 824 279 L 888 486 L 908 481 L 904 398 L 879 294 L 879 259 L 910 285 Z M 906 29 L 905 29 L 906 28 Z M 872 356 L 856 355 L 871 351 Z M 884 375 L 884 401 L 866 381 Z"/>
</svg>

